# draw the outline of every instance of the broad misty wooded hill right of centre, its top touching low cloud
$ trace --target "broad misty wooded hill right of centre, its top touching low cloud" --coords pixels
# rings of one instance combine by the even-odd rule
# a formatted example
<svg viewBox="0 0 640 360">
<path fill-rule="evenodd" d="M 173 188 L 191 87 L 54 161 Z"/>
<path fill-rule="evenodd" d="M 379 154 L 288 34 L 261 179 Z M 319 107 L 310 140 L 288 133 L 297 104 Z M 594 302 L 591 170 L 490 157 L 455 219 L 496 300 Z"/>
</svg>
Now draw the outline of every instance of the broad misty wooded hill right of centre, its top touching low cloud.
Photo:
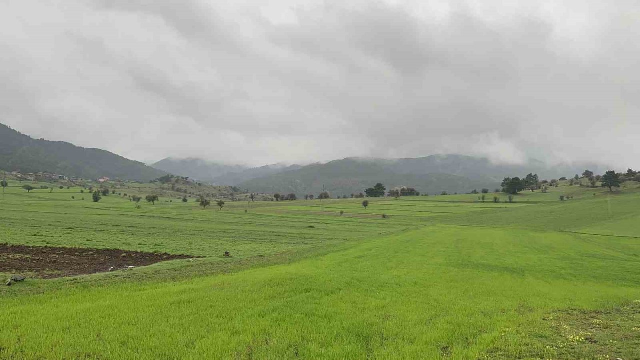
<svg viewBox="0 0 640 360">
<path fill-rule="evenodd" d="M 324 186 L 337 196 L 363 192 L 375 183 L 383 183 L 387 189 L 412 186 L 421 193 L 465 193 L 482 188 L 495 190 L 507 176 L 534 173 L 542 179 L 557 179 L 582 174 L 585 168 L 603 170 L 594 165 L 548 167 L 540 161 L 527 165 L 495 165 L 485 158 L 452 154 L 396 160 L 346 158 L 259 177 L 237 186 L 253 192 L 298 195 L 320 192 Z"/>
</svg>

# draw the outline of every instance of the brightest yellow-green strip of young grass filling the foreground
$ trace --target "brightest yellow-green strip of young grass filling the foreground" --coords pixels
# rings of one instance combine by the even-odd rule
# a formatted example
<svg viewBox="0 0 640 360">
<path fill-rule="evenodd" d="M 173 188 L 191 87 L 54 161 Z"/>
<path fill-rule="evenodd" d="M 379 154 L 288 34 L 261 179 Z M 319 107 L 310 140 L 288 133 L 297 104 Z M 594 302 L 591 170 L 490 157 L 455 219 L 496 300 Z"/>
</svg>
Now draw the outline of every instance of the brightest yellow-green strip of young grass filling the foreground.
<svg viewBox="0 0 640 360">
<path fill-rule="evenodd" d="M 9 299 L 0 354 L 476 359 L 557 309 L 640 299 L 629 254 L 639 250 L 602 236 L 426 227 L 291 265 Z M 503 358 L 532 351 L 509 341 Z"/>
</svg>

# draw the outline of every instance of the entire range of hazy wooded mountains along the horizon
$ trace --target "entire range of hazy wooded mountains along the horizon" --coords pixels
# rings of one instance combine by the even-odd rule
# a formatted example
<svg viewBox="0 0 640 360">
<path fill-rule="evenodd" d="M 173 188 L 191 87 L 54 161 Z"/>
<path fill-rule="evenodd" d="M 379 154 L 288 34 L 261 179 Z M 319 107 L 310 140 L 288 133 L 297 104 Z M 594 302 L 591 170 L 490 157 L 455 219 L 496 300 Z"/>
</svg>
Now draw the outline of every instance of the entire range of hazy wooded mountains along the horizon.
<svg viewBox="0 0 640 360">
<path fill-rule="evenodd" d="M 550 167 L 543 161 L 525 165 L 494 164 L 486 158 L 456 154 L 423 158 L 344 158 L 311 165 L 274 164 L 263 167 L 225 165 L 198 158 L 166 158 L 152 167 L 108 151 L 77 147 L 67 142 L 35 140 L 0 124 L 0 169 L 19 172 L 51 172 L 85 179 L 150 181 L 171 173 L 214 185 L 237 186 L 247 192 L 317 194 L 333 196 L 364 192 L 376 183 L 387 189 L 413 187 L 421 193 L 464 193 L 499 188 L 504 177 L 538 174 L 541 179 L 572 177 L 593 164 Z"/>
</svg>

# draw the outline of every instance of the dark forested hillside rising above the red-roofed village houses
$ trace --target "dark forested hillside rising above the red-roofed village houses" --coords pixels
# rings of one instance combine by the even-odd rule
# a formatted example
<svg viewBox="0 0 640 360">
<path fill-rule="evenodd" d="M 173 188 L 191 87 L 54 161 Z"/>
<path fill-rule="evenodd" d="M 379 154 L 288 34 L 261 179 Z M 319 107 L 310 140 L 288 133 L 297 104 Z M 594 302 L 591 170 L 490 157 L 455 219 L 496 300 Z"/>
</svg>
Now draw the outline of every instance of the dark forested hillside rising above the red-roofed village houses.
<svg viewBox="0 0 640 360">
<path fill-rule="evenodd" d="M 108 151 L 67 142 L 35 140 L 0 124 L 0 168 L 19 172 L 52 172 L 85 179 L 150 181 L 166 174 Z"/>
</svg>

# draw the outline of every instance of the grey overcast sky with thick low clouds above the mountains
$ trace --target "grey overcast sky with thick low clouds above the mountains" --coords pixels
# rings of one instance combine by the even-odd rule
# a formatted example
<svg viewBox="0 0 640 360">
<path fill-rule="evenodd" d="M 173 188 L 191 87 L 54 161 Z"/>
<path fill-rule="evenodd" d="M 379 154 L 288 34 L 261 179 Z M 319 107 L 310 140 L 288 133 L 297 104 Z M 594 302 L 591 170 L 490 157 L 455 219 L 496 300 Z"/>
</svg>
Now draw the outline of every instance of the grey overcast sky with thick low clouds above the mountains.
<svg viewBox="0 0 640 360">
<path fill-rule="evenodd" d="M 147 162 L 640 168 L 638 19 L 640 0 L 3 0 L 0 122 Z"/>
</svg>

